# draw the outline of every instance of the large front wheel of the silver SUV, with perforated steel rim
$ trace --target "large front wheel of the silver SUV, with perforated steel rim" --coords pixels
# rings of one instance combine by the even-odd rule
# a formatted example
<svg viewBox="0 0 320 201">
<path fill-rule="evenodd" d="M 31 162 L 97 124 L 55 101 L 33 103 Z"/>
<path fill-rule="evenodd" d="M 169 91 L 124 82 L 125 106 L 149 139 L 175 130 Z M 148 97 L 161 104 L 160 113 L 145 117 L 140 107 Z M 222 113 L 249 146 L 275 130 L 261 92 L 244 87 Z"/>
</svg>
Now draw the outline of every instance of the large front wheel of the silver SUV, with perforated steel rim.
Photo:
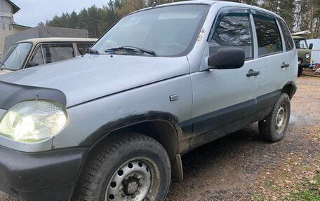
<svg viewBox="0 0 320 201">
<path fill-rule="evenodd" d="M 72 200 L 161 201 L 166 198 L 171 163 L 158 141 L 130 133 L 96 153 L 86 162 Z"/>
</svg>

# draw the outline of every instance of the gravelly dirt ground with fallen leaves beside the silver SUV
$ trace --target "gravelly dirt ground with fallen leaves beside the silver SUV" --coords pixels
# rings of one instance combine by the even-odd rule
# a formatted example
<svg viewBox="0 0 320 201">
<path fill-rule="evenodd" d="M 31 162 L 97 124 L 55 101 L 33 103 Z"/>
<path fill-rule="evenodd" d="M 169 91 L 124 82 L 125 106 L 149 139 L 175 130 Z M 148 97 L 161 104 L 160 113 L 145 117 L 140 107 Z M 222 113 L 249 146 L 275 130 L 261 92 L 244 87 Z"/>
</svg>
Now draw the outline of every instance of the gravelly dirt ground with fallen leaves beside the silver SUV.
<svg viewBox="0 0 320 201">
<path fill-rule="evenodd" d="M 263 141 L 254 123 L 182 162 L 185 179 L 173 179 L 167 201 L 295 200 L 290 195 L 320 172 L 320 78 L 298 78 L 283 140 Z M 0 193 L 0 201 L 15 200 Z"/>
</svg>

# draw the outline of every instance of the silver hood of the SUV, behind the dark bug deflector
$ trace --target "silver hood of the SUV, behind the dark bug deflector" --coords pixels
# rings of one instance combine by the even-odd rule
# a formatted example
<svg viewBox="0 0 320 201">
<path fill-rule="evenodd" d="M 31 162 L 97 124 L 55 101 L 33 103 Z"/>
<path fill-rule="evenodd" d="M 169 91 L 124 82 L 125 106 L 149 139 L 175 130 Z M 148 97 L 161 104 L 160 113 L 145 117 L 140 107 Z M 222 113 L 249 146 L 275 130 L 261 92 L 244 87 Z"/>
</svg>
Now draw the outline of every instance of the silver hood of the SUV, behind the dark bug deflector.
<svg viewBox="0 0 320 201">
<path fill-rule="evenodd" d="M 85 55 L 4 74 L 0 81 L 60 90 L 69 107 L 188 73 L 187 57 Z"/>
</svg>

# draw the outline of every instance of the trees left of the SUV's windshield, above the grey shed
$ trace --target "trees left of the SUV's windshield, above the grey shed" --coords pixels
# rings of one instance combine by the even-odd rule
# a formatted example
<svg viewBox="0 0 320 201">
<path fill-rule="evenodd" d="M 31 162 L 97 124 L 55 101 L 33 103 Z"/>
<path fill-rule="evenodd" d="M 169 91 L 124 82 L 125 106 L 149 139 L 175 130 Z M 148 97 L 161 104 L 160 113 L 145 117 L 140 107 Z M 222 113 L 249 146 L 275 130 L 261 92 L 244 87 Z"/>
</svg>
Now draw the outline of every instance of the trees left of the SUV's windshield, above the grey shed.
<svg viewBox="0 0 320 201">
<path fill-rule="evenodd" d="M 167 4 L 179 0 L 157 0 L 157 4 Z M 180 0 L 182 1 L 182 0 Z M 39 22 L 38 26 L 87 29 L 88 36 L 99 38 L 128 13 L 152 6 L 154 0 L 109 0 L 107 5 L 97 8 L 83 8 L 79 13 L 62 13 L 54 15 L 51 20 Z"/>
</svg>

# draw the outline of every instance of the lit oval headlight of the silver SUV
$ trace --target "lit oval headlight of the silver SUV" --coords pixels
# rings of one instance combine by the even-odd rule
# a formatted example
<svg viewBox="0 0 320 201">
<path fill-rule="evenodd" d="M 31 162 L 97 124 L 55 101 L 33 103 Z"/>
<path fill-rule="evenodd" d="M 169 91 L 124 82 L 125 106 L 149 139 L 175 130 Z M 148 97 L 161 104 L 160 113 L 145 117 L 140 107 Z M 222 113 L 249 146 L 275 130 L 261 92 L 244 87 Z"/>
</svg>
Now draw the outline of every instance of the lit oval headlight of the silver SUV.
<svg viewBox="0 0 320 201">
<path fill-rule="evenodd" d="M 0 134 L 15 141 L 44 141 L 58 134 L 67 125 L 67 111 L 45 100 L 19 102 L 5 113 Z"/>
</svg>

